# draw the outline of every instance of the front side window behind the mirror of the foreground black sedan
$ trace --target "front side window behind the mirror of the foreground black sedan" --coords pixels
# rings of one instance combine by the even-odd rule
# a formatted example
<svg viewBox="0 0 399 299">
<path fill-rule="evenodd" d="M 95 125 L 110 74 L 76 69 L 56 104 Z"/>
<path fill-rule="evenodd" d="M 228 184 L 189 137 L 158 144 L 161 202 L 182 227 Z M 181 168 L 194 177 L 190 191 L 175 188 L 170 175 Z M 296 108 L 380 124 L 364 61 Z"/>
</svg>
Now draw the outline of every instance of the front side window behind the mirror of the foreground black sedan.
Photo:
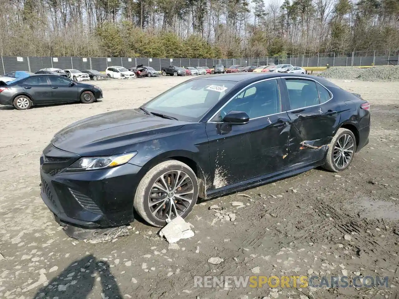
<svg viewBox="0 0 399 299">
<path fill-rule="evenodd" d="M 224 106 L 213 121 L 221 121 L 230 111 L 247 112 L 250 119 L 281 112 L 280 90 L 277 80 L 251 85 Z"/>
</svg>

